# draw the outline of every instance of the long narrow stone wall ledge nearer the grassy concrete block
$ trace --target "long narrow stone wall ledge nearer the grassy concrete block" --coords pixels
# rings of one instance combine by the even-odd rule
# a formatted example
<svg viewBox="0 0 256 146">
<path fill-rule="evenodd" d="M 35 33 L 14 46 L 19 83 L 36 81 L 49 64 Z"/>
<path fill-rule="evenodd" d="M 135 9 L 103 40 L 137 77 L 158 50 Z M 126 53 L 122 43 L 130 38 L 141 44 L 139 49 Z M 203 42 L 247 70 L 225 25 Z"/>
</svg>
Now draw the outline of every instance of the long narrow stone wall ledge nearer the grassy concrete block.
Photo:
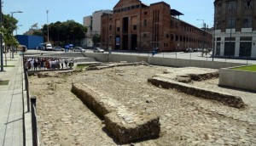
<svg viewBox="0 0 256 146">
<path fill-rule="evenodd" d="M 182 93 L 194 95 L 195 97 L 217 100 L 223 104 L 227 104 L 231 107 L 235 107 L 238 109 L 243 108 L 245 106 L 240 97 L 236 97 L 227 93 L 217 93 L 199 87 L 192 87 L 189 84 L 168 80 L 164 77 L 153 77 L 148 79 L 148 82 L 151 82 L 156 87 L 161 86 L 166 89 L 172 88 Z"/>
</svg>

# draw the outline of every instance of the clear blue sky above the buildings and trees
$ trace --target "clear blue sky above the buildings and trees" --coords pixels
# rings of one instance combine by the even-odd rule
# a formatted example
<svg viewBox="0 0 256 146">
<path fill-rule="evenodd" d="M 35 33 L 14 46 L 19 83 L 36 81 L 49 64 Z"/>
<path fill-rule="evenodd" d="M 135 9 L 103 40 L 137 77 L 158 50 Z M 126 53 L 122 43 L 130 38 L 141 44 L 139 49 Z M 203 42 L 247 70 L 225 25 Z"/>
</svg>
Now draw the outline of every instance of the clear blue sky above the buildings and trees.
<svg viewBox="0 0 256 146">
<path fill-rule="evenodd" d="M 158 3 L 162 0 L 143 0 L 145 4 Z M 3 14 L 22 11 L 14 14 L 19 20 L 17 33 L 22 34 L 38 23 L 38 27 L 47 24 L 46 10 L 49 10 L 49 23 L 56 21 L 75 20 L 83 24 L 83 17 L 100 9 L 113 9 L 119 0 L 2 0 Z M 183 13 L 180 20 L 188 22 L 196 27 L 202 26 L 204 20 L 209 27 L 213 25 L 213 0 L 166 0 L 171 8 Z M 197 20 L 201 19 L 201 20 Z"/>
</svg>

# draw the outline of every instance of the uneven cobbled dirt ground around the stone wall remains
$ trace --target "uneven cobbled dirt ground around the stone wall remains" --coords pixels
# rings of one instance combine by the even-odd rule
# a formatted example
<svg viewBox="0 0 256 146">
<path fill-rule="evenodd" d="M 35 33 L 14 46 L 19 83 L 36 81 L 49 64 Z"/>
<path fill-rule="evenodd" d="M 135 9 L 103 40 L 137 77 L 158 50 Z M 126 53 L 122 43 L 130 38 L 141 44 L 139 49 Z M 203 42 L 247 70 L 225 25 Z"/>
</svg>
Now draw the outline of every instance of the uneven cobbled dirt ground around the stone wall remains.
<svg viewBox="0 0 256 146">
<path fill-rule="evenodd" d="M 252 103 L 256 93 L 218 87 L 218 78 L 191 83 L 240 95 L 247 107 L 238 110 L 148 83 L 148 78 L 166 70 L 177 68 L 129 65 L 43 73 L 47 76 L 41 78 L 30 76 L 30 90 L 37 97 L 40 143 L 118 145 L 104 130 L 102 119 L 71 93 L 72 83 L 81 82 L 137 113 L 154 112 L 160 116 L 160 138 L 127 145 L 256 145 L 256 106 Z"/>
</svg>

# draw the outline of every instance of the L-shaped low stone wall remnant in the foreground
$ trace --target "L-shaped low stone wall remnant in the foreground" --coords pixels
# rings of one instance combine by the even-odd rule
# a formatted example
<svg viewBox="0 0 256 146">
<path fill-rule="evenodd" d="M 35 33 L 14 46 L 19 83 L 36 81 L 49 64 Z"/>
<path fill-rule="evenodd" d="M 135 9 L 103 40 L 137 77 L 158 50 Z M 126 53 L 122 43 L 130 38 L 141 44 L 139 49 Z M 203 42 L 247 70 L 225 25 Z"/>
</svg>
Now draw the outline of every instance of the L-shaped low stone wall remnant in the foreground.
<svg viewBox="0 0 256 146">
<path fill-rule="evenodd" d="M 143 139 L 159 138 L 160 118 L 154 114 L 136 115 L 132 112 L 123 111 L 123 105 L 119 105 L 112 98 L 97 93 L 86 85 L 73 84 L 72 92 L 76 94 L 91 110 L 104 118 L 105 127 L 119 143 L 132 143 Z M 122 107 L 119 108 L 114 105 Z"/>
</svg>

